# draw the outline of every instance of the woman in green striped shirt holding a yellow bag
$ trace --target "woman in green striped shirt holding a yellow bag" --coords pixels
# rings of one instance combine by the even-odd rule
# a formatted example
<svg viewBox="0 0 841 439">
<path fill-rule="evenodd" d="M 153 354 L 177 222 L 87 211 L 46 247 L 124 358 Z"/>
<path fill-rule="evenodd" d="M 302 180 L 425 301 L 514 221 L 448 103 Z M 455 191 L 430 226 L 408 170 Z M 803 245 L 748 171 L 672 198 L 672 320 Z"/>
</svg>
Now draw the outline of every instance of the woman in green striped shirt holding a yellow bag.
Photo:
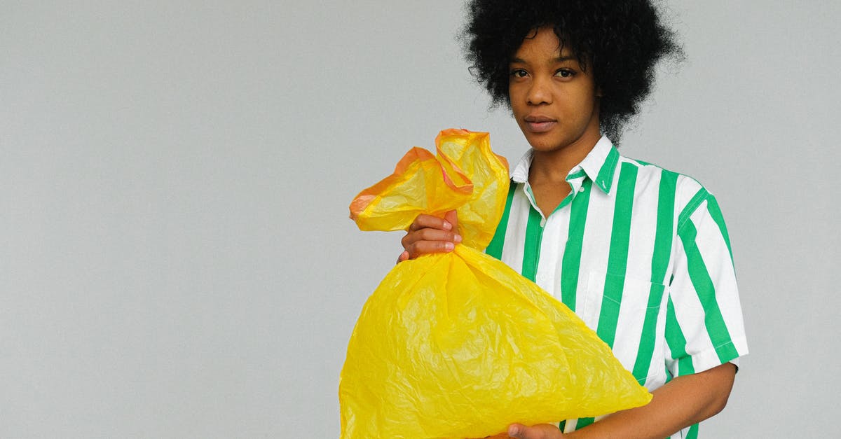
<svg viewBox="0 0 841 439">
<path fill-rule="evenodd" d="M 474 73 L 532 146 L 486 251 L 573 309 L 653 394 L 637 409 L 499 436 L 697 436 L 748 352 L 727 229 L 701 184 L 615 146 L 653 66 L 680 55 L 672 34 L 643 0 L 476 0 L 468 10 Z M 399 261 L 459 241 L 455 212 L 421 215 Z"/>
</svg>

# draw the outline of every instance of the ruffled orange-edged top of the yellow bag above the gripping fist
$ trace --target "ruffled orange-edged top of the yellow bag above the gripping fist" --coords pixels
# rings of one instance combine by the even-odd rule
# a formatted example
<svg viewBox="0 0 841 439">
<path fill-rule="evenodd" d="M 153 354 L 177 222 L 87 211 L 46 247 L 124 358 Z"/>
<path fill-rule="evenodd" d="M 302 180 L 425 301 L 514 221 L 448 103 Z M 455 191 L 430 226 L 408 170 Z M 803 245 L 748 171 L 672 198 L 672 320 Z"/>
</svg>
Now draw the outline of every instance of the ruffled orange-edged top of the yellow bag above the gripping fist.
<svg viewBox="0 0 841 439">
<path fill-rule="evenodd" d="M 484 250 L 494 238 L 508 193 L 508 161 L 490 151 L 488 133 L 443 130 L 438 156 L 412 148 L 394 173 L 353 199 L 359 230 L 406 230 L 419 214 L 458 212 L 462 243 Z"/>
</svg>

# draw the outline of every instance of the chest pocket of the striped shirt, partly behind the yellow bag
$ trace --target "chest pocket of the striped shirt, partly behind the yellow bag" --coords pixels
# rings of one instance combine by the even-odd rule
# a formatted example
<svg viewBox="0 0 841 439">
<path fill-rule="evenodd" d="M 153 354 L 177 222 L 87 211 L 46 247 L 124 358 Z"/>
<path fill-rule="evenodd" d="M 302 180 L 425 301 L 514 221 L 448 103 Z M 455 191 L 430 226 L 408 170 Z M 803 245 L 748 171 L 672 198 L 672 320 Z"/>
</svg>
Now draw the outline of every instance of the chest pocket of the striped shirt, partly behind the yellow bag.
<svg viewBox="0 0 841 439">
<path fill-rule="evenodd" d="M 647 377 L 653 357 L 661 356 L 665 286 L 639 278 L 590 272 L 581 318 L 613 349 L 625 368 Z M 645 365 L 645 367 L 643 367 Z"/>
</svg>

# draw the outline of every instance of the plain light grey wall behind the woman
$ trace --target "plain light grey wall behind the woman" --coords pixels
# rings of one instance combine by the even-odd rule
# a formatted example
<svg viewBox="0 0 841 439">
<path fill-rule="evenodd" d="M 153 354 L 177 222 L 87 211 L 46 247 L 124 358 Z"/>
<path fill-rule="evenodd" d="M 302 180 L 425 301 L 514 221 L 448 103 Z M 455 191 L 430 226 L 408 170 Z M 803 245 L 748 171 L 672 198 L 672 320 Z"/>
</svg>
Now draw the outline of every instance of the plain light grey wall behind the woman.
<svg viewBox="0 0 841 439">
<path fill-rule="evenodd" d="M 0 437 L 336 437 L 400 234 L 347 204 L 438 130 L 527 145 L 459 2 L 0 3 Z M 624 138 L 728 221 L 751 354 L 706 437 L 832 434 L 838 2 L 668 3 Z"/>
</svg>

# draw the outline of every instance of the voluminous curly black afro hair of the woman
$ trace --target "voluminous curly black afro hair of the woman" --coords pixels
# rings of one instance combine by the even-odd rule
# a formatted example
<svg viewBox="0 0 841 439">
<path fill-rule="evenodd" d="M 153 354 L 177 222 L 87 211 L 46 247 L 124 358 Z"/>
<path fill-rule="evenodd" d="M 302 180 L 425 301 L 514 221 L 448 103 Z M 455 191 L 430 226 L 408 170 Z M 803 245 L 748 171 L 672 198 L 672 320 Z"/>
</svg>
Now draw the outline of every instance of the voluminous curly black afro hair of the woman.
<svg viewBox="0 0 841 439">
<path fill-rule="evenodd" d="M 651 92 L 654 66 L 683 51 L 649 0 L 471 0 L 465 41 L 470 71 L 492 106 L 510 107 L 510 59 L 523 39 L 551 26 L 599 87 L 600 129 L 618 144 L 625 124 Z"/>
</svg>

